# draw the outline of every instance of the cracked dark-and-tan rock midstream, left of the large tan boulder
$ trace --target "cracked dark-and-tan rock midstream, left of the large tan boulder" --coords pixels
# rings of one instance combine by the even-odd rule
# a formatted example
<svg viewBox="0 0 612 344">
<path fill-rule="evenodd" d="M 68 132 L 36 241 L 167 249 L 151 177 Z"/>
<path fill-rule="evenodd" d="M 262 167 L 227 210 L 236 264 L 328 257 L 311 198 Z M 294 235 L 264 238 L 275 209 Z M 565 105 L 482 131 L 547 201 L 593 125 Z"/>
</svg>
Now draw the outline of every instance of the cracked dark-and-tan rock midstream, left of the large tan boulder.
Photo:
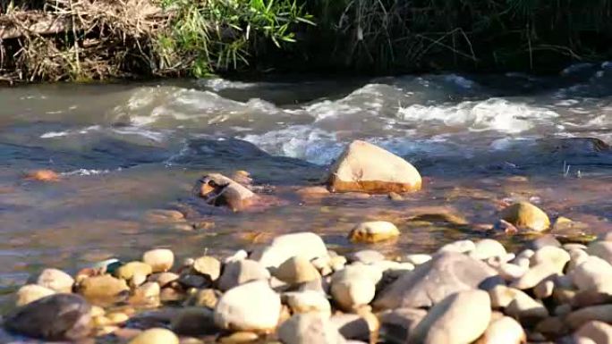
<svg viewBox="0 0 612 344">
<path fill-rule="evenodd" d="M 208 205 L 226 206 L 234 212 L 248 208 L 257 198 L 250 189 L 219 173 L 203 176 L 194 189 Z"/>
</svg>

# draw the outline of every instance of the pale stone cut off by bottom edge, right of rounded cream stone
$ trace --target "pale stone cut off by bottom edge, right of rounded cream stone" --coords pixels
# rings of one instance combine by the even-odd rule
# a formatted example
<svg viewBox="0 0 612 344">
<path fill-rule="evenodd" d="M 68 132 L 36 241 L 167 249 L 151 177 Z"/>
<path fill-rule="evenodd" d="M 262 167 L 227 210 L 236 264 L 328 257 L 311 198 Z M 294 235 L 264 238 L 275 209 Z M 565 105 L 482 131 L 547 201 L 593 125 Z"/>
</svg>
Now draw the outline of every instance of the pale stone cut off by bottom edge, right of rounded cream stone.
<svg viewBox="0 0 612 344">
<path fill-rule="evenodd" d="M 284 344 L 344 344 L 346 340 L 328 318 L 313 314 L 293 315 L 277 331 Z"/>
</svg>

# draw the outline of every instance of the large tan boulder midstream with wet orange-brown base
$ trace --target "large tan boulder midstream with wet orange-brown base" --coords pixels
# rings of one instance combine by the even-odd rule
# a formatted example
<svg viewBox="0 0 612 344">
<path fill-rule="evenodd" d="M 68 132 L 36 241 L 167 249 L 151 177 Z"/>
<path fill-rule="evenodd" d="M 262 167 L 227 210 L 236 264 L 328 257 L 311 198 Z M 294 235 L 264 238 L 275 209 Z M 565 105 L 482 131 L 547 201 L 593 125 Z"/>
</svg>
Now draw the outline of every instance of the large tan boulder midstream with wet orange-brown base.
<svg viewBox="0 0 612 344">
<path fill-rule="evenodd" d="M 421 189 L 421 175 L 401 157 L 368 142 L 355 140 L 331 167 L 332 192 L 411 192 Z"/>
</svg>

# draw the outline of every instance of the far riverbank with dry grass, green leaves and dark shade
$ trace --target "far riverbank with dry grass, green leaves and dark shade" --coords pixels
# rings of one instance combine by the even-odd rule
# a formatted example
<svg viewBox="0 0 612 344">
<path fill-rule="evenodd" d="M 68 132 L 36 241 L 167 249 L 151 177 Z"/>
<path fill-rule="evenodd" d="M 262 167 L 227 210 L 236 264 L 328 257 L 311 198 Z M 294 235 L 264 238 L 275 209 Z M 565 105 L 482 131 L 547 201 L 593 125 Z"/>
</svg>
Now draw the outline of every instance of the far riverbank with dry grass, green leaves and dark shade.
<svg viewBox="0 0 612 344">
<path fill-rule="evenodd" d="M 213 72 L 558 71 L 611 57 L 612 3 L 0 0 L 7 81 Z"/>
</svg>

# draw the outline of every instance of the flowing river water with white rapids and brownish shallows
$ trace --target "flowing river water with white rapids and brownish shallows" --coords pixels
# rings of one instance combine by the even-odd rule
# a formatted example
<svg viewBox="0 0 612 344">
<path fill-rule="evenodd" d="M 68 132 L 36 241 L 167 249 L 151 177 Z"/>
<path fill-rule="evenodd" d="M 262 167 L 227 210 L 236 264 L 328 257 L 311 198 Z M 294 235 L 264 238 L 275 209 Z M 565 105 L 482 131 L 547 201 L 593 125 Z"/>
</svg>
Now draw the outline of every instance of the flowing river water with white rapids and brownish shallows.
<svg viewBox="0 0 612 344">
<path fill-rule="evenodd" d="M 355 222 L 387 219 L 389 255 L 429 252 L 481 231 L 501 205 L 529 199 L 551 217 L 612 230 L 612 64 L 557 77 L 456 74 L 352 80 L 181 80 L 0 90 L 0 291 L 42 267 L 69 272 L 153 247 L 227 255 L 270 234 L 316 231 L 339 251 Z M 424 189 L 298 197 L 355 138 L 414 164 Z M 23 180 L 52 169 L 58 182 Z M 206 172 L 251 172 L 273 205 L 231 214 L 191 197 Z M 179 209 L 214 228 L 151 222 Z M 470 225 L 408 222 L 452 212 Z M 503 236 L 503 234 L 501 234 Z M 520 240 L 506 239 L 507 242 Z M 4 298 L 4 304 L 8 303 Z"/>
</svg>

